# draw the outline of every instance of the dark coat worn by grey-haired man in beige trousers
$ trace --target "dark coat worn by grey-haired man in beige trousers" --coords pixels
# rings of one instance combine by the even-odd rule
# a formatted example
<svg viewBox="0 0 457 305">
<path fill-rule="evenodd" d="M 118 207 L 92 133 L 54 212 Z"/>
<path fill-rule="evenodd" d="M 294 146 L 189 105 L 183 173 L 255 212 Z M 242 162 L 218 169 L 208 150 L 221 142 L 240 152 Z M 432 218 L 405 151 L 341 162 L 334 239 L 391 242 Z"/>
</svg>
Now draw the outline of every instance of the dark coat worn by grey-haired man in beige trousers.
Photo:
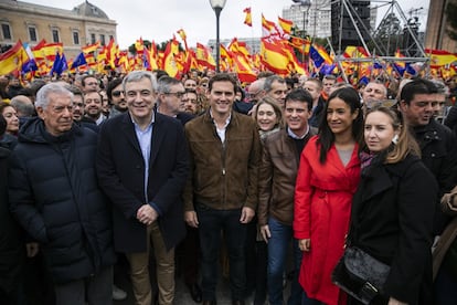
<svg viewBox="0 0 457 305">
<path fill-rule="evenodd" d="M 185 235 L 181 191 L 189 171 L 181 123 L 155 114 L 149 160 L 148 203 L 159 209 L 159 227 L 167 249 Z M 99 132 L 97 172 L 102 189 L 113 202 L 115 249 L 146 251 L 146 225 L 136 219 L 146 203 L 145 161 L 129 113 L 105 122 Z"/>
</svg>

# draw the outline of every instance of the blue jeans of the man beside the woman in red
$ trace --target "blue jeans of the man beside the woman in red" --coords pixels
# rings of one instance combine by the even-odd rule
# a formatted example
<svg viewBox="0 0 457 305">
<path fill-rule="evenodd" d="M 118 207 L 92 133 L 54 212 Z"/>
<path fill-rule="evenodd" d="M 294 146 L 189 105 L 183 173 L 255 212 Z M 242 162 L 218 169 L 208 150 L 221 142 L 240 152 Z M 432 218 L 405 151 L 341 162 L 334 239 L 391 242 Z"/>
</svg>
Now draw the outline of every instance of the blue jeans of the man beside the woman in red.
<svg viewBox="0 0 457 305">
<path fill-rule="evenodd" d="M 286 259 L 290 241 L 294 249 L 294 280 L 290 287 L 289 305 L 301 304 L 302 288 L 298 283 L 302 253 L 298 241 L 294 239 L 291 225 L 281 224 L 274 218 L 268 219 L 272 238 L 268 240 L 268 301 L 272 305 L 283 304 L 283 275 L 286 271 Z"/>
</svg>

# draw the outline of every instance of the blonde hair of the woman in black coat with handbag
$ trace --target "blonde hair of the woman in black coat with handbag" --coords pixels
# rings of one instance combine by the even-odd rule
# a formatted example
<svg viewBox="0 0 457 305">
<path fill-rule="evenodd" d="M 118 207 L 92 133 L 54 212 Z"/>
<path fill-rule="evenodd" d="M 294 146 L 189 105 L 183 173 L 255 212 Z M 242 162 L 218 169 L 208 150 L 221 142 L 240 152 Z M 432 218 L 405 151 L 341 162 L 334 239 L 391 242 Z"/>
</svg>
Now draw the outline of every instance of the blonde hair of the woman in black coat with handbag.
<svg viewBox="0 0 457 305">
<path fill-rule="evenodd" d="M 398 130 L 398 140 L 394 145 L 393 149 L 390 150 L 385 157 L 385 164 L 396 164 L 407 155 L 412 154 L 417 157 L 421 157 L 421 148 L 417 141 L 414 139 L 413 135 L 411 134 L 407 125 L 404 124 L 402 114 L 395 109 L 385 107 L 383 105 L 374 106 L 373 108 L 369 109 L 366 113 L 365 118 L 371 113 L 383 113 L 391 118 L 392 127 L 394 130 Z M 366 144 L 363 141 L 363 148 L 366 148 Z"/>
</svg>

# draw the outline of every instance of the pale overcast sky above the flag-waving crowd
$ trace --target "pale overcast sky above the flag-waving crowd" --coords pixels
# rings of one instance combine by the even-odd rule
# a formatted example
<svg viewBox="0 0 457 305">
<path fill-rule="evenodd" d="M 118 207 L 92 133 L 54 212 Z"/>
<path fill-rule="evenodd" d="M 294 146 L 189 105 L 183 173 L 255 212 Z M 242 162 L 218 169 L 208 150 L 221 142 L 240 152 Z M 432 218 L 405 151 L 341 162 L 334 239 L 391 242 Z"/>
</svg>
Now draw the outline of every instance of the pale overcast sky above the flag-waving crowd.
<svg viewBox="0 0 457 305">
<path fill-rule="evenodd" d="M 0 0 L 4 1 L 4 0 Z M 23 0 L 24 2 L 72 10 L 83 0 Z M 322 1 L 322 0 L 311 0 Z M 405 12 L 411 8 L 421 10 L 421 29 L 425 28 L 429 0 L 396 0 Z M 127 48 L 140 36 L 157 43 L 169 40 L 179 30 L 184 29 L 188 43 L 206 44 L 215 38 L 215 14 L 209 0 L 91 0 L 91 3 L 105 11 L 109 19 L 117 22 L 117 40 L 121 49 Z M 372 1 L 372 6 L 384 6 L 387 1 Z M 261 14 L 277 22 L 283 8 L 291 0 L 227 0 L 221 13 L 221 39 L 251 38 L 262 34 Z M 243 23 L 243 10 L 252 8 L 253 27 Z M 378 22 L 383 18 L 386 6 L 380 9 Z M 177 34 L 178 36 L 178 34 Z"/>
</svg>

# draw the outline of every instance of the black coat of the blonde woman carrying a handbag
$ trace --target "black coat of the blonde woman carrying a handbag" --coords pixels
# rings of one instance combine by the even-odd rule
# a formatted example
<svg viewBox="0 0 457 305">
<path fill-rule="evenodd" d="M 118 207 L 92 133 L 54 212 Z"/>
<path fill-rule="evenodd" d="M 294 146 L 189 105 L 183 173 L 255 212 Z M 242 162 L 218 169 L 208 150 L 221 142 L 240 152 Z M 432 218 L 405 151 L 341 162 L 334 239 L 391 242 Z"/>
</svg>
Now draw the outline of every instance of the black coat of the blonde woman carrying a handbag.
<svg viewBox="0 0 457 305">
<path fill-rule="evenodd" d="M 423 162 L 378 160 L 353 197 L 349 243 L 391 265 L 384 290 L 408 304 L 432 304 L 432 229 L 438 186 Z M 427 302 L 432 303 L 427 303 Z"/>
</svg>

